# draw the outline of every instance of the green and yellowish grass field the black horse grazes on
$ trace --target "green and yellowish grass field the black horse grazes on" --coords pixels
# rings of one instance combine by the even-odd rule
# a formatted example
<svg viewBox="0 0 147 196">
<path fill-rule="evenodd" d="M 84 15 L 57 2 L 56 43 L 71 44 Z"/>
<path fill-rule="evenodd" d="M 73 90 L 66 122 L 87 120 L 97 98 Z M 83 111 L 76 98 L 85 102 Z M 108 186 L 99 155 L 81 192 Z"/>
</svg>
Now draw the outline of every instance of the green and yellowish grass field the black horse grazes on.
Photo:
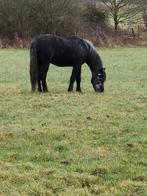
<svg viewBox="0 0 147 196">
<path fill-rule="evenodd" d="M 147 195 L 147 49 L 99 53 L 105 93 L 83 65 L 82 94 L 55 66 L 31 94 L 28 50 L 0 50 L 0 195 Z"/>
</svg>

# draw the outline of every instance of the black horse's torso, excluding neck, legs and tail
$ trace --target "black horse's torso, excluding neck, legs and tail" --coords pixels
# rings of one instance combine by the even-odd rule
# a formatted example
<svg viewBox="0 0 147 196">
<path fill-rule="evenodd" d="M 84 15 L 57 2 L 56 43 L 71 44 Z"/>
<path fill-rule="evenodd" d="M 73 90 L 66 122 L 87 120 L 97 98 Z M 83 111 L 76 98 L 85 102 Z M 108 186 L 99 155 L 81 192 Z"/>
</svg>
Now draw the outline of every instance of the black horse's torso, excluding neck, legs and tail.
<svg viewBox="0 0 147 196">
<path fill-rule="evenodd" d="M 58 66 L 73 66 L 86 61 L 87 48 L 81 38 L 42 35 L 36 41 L 40 61 Z"/>
</svg>

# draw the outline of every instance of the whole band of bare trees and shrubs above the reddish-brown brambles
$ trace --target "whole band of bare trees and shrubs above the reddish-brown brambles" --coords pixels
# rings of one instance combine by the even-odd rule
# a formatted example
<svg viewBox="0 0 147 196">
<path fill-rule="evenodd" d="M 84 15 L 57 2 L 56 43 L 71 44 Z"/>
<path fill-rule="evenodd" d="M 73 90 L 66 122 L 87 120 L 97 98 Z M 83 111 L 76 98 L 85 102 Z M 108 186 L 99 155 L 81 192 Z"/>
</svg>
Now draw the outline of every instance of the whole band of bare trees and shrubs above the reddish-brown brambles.
<svg viewBox="0 0 147 196">
<path fill-rule="evenodd" d="M 0 0 L 0 37 L 78 34 L 82 23 L 107 26 L 109 17 L 116 34 L 126 20 L 147 25 L 146 10 L 144 0 Z"/>
</svg>

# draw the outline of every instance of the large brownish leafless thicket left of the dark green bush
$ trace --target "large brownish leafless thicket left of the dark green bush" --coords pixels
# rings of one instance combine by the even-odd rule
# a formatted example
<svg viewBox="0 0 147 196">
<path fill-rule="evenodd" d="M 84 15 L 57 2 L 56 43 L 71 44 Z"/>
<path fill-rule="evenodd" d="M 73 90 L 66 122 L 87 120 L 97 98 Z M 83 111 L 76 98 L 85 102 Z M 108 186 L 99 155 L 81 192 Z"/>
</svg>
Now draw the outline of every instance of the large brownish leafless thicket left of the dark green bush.
<svg viewBox="0 0 147 196">
<path fill-rule="evenodd" d="M 78 0 L 0 0 L 0 35 L 71 34 L 78 14 Z"/>
</svg>

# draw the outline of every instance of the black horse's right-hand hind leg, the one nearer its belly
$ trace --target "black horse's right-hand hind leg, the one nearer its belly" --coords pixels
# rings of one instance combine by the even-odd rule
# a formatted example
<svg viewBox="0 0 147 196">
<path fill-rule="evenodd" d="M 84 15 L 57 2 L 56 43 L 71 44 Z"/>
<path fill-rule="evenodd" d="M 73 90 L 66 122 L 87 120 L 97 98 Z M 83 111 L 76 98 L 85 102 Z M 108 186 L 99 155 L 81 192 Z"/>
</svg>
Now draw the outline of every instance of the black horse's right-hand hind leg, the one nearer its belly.
<svg viewBox="0 0 147 196">
<path fill-rule="evenodd" d="M 49 64 L 43 65 L 42 70 L 41 70 L 43 92 L 48 92 L 47 83 L 46 83 L 46 76 L 47 76 L 48 68 L 49 68 Z"/>
</svg>

